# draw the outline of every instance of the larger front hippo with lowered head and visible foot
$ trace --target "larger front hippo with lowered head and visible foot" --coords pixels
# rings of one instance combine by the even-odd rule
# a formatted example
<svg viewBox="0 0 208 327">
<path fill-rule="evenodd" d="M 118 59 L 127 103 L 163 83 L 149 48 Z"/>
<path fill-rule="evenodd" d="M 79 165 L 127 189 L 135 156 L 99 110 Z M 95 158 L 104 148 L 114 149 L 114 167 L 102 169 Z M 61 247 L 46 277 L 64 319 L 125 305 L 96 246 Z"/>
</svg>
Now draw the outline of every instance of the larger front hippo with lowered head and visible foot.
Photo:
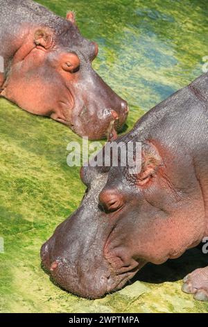
<svg viewBox="0 0 208 327">
<path fill-rule="evenodd" d="M 99 298 L 147 262 L 180 257 L 208 235 L 207 90 L 208 73 L 111 142 L 141 143 L 138 171 L 105 162 L 81 168 L 80 207 L 41 249 L 44 269 L 64 289 Z M 207 301 L 208 266 L 186 276 L 182 290 Z"/>
</svg>

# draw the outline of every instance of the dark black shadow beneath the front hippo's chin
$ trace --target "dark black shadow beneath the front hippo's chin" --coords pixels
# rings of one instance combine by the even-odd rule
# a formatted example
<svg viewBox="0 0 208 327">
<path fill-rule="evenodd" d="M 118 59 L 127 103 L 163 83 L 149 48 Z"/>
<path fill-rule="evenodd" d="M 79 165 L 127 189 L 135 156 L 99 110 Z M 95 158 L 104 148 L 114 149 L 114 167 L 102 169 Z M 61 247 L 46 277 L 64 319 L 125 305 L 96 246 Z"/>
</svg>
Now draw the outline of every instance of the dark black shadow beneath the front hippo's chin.
<svg viewBox="0 0 208 327">
<path fill-rule="evenodd" d="M 168 260 L 164 264 L 146 264 L 139 271 L 131 282 L 137 280 L 159 284 L 162 282 L 175 282 L 182 280 L 188 273 L 195 269 L 202 268 L 208 264 L 208 254 L 202 253 L 202 245 L 187 250 L 181 257 Z"/>
</svg>

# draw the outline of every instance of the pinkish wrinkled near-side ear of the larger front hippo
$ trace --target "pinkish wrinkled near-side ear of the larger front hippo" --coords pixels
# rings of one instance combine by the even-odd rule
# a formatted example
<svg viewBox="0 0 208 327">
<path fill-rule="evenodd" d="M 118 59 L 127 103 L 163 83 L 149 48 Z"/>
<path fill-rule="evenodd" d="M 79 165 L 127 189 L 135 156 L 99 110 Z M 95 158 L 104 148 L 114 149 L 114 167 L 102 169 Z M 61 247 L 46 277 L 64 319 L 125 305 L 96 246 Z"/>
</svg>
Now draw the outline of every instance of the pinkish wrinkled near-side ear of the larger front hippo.
<svg viewBox="0 0 208 327">
<path fill-rule="evenodd" d="M 157 170 L 162 167 L 162 158 L 159 156 L 157 148 L 150 143 L 142 147 L 141 152 L 141 171 L 137 174 L 136 184 L 144 186 L 157 175 Z"/>
</svg>

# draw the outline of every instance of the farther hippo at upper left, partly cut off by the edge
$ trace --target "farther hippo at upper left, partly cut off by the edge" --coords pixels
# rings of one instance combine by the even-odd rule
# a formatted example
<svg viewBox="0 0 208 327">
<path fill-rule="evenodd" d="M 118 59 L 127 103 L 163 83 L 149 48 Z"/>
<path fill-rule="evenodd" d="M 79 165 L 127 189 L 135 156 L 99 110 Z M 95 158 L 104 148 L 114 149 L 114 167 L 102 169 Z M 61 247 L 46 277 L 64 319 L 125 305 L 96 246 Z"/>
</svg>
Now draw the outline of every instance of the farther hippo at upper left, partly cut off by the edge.
<svg viewBox="0 0 208 327">
<path fill-rule="evenodd" d="M 83 38 L 73 12 L 63 19 L 31 0 L 0 6 L 1 97 L 80 136 L 115 138 L 128 104 L 93 70 L 98 45 Z"/>
</svg>

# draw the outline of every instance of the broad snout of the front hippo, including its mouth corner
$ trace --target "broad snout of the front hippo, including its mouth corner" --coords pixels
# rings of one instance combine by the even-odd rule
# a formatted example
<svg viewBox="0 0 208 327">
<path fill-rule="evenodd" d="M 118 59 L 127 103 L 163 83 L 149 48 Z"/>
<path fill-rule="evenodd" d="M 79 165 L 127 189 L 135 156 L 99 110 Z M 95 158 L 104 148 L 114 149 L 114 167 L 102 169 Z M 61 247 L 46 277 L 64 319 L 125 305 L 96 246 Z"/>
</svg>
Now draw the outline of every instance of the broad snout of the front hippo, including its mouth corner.
<svg viewBox="0 0 208 327">
<path fill-rule="evenodd" d="M 104 223 L 103 233 L 97 225 L 92 228 L 89 237 L 87 228 L 91 219 L 87 219 L 85 225 L 78 226 L 82 217 L 81 210 L 58 226 L 51 239 L 41 248 L 42 266 L 55 284 L 72 294 L 101 298 L 123 287 L 146 262 L 133 260 L 132 264 L 130 258 L 125 258 L 125 254 L 122 256 L 122 251 L 115 256 L 105 256 L 109 229 Z"/>
</svg>

